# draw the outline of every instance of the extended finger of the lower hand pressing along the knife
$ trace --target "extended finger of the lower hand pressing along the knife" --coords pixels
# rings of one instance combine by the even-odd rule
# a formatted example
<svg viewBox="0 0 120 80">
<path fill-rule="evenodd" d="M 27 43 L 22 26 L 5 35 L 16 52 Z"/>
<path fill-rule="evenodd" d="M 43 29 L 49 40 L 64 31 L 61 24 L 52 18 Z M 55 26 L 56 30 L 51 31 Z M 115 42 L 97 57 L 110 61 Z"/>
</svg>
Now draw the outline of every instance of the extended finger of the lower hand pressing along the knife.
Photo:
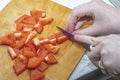
<svg viewBox="0 0 120 80">
<path fill-rule="evenodd" d="M 101 36 L 101 37 L 92 37 L 92 36 L 87 36 L 87 35 L 75 35 L 74 36 L 75 40 L 87 44 L 91 44 L 93 46 L 96 46 L 99 44 L 101 41 L 103 41 L 106 37 Z"/>
</svg>

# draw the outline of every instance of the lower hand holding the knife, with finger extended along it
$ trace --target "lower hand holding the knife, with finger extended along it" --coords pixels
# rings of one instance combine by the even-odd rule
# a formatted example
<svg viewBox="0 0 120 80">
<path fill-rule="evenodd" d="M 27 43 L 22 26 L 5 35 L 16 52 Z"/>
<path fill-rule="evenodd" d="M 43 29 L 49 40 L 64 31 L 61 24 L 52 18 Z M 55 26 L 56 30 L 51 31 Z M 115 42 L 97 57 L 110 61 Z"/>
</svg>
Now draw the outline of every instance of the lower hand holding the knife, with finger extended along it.
<svg viewBox="0 0 120 80">
<path fill-rule="evenodd" d="M 120 35 L 109 35 L 102 37 L 91 37 L 86 35 L 75 35 L 80 42 L 95 46 L 87 54 L 93 64 L 104 74 L 120 80 Z"/>
</svg>

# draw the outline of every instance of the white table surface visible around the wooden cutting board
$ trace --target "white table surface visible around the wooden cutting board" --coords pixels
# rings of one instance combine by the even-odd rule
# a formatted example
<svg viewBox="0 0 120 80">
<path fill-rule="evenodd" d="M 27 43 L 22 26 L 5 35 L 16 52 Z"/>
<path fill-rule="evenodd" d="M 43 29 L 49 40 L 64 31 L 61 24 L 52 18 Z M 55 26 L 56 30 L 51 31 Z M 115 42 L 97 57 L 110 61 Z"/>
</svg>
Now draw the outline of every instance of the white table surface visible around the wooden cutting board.
<svg viewBox="0 0 120 80">
<path fill-rule="evenodd" d="M 0 0 L 0 11 L 9 3 L 10 0 Z M 73 9 L 75 6 L 79 4 L 83 4 L 85 2 L 91 0 L 51 0 L 63 6 L 66 6 L 70 9 Z M 108 0 L 104 0 L 106 3 L 112 5 Z M 113 6 L 113 5 L 112 5 Z M 81 61 L 79 61 L 78 65 L 74 69 L 73 73 L 71 74 L 69 80 L 76 80 L 80 76 L 95 70 L 96 67 L 90 62 L 86 55 L 83 56 Z"/>
</svg>

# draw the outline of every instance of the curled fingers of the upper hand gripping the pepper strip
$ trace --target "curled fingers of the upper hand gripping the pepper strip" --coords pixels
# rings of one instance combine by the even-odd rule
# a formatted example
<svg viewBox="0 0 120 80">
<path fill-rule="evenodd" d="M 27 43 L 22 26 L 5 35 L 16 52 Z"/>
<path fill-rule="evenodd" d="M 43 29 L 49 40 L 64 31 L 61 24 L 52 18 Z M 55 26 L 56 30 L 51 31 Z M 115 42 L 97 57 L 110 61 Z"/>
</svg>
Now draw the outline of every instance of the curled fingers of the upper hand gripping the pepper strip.
<svg viewBox="0 0 120 80">
<path fill-rule="evenodd" d="M 93 16 L 92 12 L 88 6 L 82 5 L 79 6 L 79 8 L 74 8 L 72 13 L 70 14 L 67 22 L 66 22 L 66 30 L 68 30 L 69 32 L 73 32 L 75 30 L 75 26 L 77 25 L 77 23 L 79 22 L 78 19 L 84 17 L 84 16 Z M 81 23 L 78 23 L 78 26 L 80 26 L 81 24 L 84 23 L 84 21 L 80 21 Z"/>
</svg>

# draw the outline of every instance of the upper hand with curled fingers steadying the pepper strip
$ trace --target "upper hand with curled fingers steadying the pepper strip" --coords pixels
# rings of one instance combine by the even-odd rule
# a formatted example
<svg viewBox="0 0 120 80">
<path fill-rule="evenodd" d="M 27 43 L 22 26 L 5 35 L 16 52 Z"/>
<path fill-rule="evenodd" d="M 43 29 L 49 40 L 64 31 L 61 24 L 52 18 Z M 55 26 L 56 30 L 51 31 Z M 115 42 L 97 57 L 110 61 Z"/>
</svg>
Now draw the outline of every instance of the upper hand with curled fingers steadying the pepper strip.
<svg viewBox="0 0 120 80">
<path fill-rule="evenodd" d="M 93 20 L 92 25 L 85 29 L 79 29 L 91 18 Z M 92 0 L 72 10 L 66 23 L 66 30 L 69 32 L 75 31 L 74 34 L 84 35 L 120 33 L 119 24 L 120 11 L 118 9 L 102 0 Z"/>
</svg>

